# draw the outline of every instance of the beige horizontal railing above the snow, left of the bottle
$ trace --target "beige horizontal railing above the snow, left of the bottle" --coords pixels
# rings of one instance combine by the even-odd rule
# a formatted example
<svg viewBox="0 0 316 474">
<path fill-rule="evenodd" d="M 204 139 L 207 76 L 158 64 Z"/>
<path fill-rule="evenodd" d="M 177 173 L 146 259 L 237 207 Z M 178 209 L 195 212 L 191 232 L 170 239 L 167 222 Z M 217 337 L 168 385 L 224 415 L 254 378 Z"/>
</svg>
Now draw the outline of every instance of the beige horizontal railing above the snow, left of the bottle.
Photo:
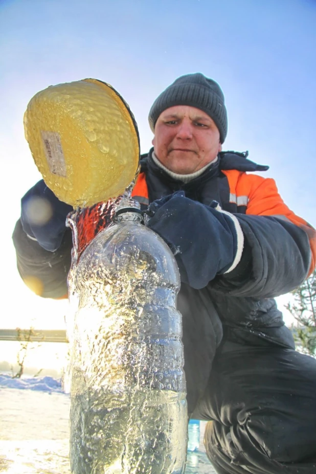
<svg viewBox="0 0 316 474">
<path fill-rule="evenodd" d="M 0 341 L 68 342 L 63 329 L 0 329 Z"/>
</svg>

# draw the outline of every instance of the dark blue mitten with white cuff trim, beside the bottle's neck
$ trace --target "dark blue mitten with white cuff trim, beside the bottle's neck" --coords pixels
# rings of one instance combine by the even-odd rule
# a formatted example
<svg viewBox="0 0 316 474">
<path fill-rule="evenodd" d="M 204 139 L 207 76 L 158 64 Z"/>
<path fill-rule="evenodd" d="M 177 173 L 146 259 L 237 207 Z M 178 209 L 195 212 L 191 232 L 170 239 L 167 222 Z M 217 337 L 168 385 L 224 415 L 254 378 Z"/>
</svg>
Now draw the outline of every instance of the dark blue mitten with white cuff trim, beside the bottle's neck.
<svg viewBox="0 0 316 474">
<path fill-rule="evenodd" d="M 244 240 L 240 224 L 216 201 L 205 206 L 178 191 L 152 202 L 146 214 L 146 225 L 169 245 L 181 281 L 191 287 L 204 288 L 239 263 Z"/>
</svg>

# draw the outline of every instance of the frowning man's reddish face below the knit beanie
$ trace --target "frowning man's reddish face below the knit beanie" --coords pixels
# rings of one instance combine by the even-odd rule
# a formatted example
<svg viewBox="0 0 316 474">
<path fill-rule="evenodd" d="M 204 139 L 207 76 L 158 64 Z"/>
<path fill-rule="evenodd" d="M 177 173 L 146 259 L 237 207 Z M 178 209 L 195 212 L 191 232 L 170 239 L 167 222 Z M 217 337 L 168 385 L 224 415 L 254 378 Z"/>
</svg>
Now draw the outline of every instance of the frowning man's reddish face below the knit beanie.
<svg viewBox="0 0 316 474">
<path fill-rule="evenodd" d="M 164 110 L 155 124 L 155 155 L 170 171 L 190 174 L 215 160 L 221 144 L 214 121 L 189 105 Z"/>
</svg>

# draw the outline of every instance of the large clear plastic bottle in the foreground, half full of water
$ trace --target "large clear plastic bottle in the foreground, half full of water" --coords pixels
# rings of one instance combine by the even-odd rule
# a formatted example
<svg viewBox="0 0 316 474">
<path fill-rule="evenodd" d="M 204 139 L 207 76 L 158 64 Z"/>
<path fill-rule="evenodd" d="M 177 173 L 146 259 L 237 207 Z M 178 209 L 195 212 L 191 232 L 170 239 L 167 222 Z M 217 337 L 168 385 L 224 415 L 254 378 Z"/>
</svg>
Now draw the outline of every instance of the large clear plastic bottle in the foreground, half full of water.
<svg viewBox="0 0 316 474">
<path fill-rule="evenodd" d="M 178 269 L 123 201 L 70 276 L 71 469 L 180 474 L 187 452 Z"/>
</svg>

